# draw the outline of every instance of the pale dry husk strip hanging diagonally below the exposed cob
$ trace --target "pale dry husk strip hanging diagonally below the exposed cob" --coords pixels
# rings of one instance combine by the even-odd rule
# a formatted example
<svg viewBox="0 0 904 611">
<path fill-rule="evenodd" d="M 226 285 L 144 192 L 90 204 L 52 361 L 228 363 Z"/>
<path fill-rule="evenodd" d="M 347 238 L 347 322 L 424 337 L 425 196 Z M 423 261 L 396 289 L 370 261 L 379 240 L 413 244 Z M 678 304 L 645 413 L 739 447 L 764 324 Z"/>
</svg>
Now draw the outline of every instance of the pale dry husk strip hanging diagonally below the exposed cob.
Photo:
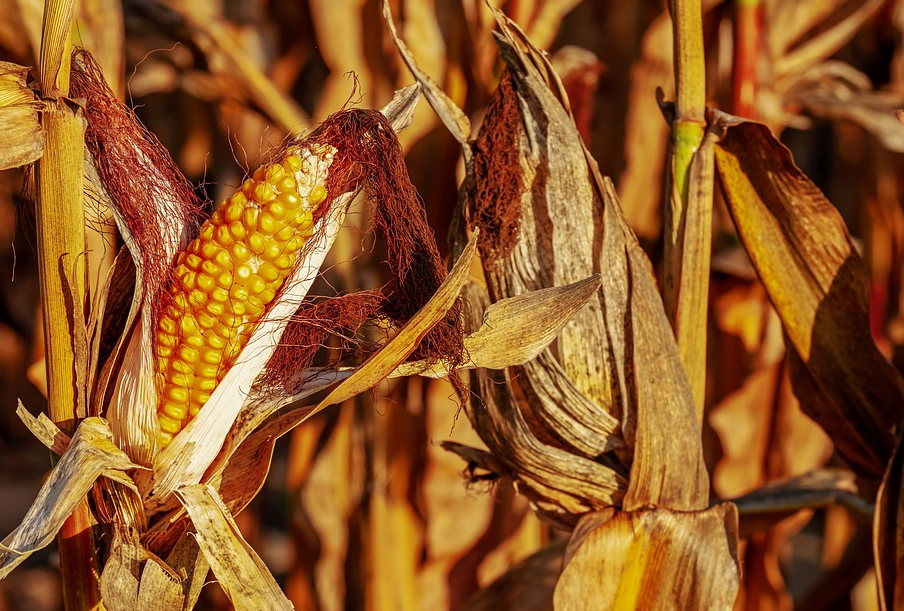
<svg viewBox="0 0 904 611">
<path fill-rule="evenodd" d="M 201 551 L 236 611 L 294 608 L 266 565 L 245 542 L 213 488 L 185 486 L 176 495 L 195 525 Z"/>
</svg>

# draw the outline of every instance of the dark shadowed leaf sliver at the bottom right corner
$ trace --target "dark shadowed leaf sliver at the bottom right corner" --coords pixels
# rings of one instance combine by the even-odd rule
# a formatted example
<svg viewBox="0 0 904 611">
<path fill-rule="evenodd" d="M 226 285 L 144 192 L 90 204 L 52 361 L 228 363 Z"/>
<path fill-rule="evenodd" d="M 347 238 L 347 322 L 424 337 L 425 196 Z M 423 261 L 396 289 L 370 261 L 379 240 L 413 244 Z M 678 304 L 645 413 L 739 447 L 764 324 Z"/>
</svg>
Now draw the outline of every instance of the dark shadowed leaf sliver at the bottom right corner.
<svg viewBox="0 0 904 611">
<path fill-rule="evenodd" d="M 904 441 L 900 438 L 876 499 L 873 542 L 880 608 L 904 609 Z"/>
</svg>

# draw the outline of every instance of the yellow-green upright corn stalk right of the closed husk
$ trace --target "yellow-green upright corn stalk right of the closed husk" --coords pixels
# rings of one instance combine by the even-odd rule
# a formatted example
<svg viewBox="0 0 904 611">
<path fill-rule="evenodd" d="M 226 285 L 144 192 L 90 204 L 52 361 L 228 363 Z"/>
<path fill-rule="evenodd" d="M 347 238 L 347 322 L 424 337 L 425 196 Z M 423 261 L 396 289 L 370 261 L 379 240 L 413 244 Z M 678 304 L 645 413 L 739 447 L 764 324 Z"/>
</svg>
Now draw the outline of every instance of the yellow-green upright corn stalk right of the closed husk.
<svg viewBox="0 0 904 611">
<path fill-rule="evenodd" d="M 711 248 L 712 147 L 703 147 L 706 73 L 700 0 L 672 0 L 677 103 L 665 212 L 663 300 L 702 422 Z"/>
</svg>

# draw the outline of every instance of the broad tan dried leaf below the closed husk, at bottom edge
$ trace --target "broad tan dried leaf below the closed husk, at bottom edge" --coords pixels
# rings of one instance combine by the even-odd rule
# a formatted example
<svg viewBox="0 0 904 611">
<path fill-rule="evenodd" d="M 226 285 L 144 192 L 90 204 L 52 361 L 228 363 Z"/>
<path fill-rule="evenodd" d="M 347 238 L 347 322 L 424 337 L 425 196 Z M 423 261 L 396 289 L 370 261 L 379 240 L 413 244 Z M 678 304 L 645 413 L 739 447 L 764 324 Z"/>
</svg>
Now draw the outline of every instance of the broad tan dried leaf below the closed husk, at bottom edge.
<svg viewBox="0 0 904 611">
<path fill-rule="evenodd" d="M 737 510 L 666 509 L 582 518 L 556 584 L 556 611 L 728 610 L 738 591 Z"/>
</svg>

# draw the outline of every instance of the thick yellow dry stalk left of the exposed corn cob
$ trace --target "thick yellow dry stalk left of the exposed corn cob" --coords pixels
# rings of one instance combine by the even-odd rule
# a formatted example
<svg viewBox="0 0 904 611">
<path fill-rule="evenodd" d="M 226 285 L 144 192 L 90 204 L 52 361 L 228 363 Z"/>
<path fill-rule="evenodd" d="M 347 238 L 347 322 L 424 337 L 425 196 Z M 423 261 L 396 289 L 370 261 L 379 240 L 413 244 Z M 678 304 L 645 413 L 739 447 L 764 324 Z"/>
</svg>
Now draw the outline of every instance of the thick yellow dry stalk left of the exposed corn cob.
<svg viewBox="0 0 904 611">
<path fill-rule="evenodd" d="M 44 311 L 47 400 L 51 419 L 71 434 L 76 425 L 73 356 L 76 312 L 85 301 L 85 212 L 82 199 L 84 122 L 67 103 L 71 24 L 75 3 L 47 0 L 41 38 L 40 79 L 44 156 L 37 163 L 38 265 Z M 76 308 L 75 301 L 78 301 Z M 67 611 L 102 608 L 91 515 L 82 501 L 59 534 Z"/>
</svg>

